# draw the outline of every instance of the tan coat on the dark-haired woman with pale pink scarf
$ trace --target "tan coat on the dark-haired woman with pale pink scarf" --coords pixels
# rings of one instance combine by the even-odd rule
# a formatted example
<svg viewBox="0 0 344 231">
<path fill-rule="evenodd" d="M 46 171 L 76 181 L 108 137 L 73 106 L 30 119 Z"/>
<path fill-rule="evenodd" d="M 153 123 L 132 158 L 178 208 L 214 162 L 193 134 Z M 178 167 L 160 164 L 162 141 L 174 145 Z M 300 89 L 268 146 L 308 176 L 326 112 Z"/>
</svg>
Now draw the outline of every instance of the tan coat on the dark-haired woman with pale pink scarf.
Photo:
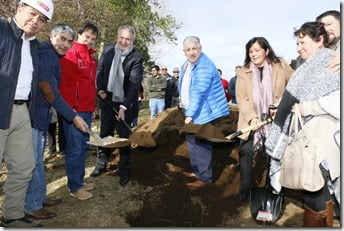
<svg viewBox="0 0 344 231">
<path fill-rule="evenodd" d="M 281 63 L 272 64 L 272 82 L 274 92 L 274 104 L 277 104 L 282 97 L 288 80 L 293 74 L 293 69 L 283 60 Z M 252 94 L 252 70 L 242 67 L 236 71 L 237 83 L 235 87 L 236 98 L 239 106 L 238 131 L 249 126 L 248 122 L 258 117 L 253 105 Z M 239 136 L 240 139 L 247 140 L 249 133 Z"/>
</svg>

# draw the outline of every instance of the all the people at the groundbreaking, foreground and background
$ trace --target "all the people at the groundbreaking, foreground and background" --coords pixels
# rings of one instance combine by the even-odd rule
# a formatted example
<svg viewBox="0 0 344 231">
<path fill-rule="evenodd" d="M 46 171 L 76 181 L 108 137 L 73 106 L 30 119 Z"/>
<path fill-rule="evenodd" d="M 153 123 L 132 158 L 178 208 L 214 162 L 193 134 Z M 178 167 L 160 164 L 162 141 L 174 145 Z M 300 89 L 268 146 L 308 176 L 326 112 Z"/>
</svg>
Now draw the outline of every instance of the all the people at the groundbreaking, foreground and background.
<svg viewBox="0 0 344 231">
<path fill-rule="evenodd" d="M 127 124 L 138 117 L 144 61 L 133 47 L 134 27 L 120 26 L 116 43 L 106 46 L 96 60 L 92 54 L 96 53 L 93 46 L 98 27 L 93 23 L 83 24 L 78 31 L 67 24 L 55 24 L 48 40 L 36 39 L 53 12 L 52 0 L 21 0 L 13 17 L 0 18 L 0 106 L 4 109 L 0 110 L 0 158 L 8 169 L 1 220 L 5 227 L 41 226 L 37 219 L 56 216 L 46 207 L 62 203 L 62 199 L 46 195 L 43 154 L 52 107 L 63 117 L 68 189 L 80 200 L 91 198 L 89 191 L 96 186 L 84 177 L 97 98 L 100 137 L 116 132 L 120 138 L 128 138 L 131 131 Z M 248 200 L 252 161 L 258 150 L 271 156 L 272 186 L 276 192 L 281 190 L 278 176 L 293 105 L 301 106 L 305 122 L 322 115 L 333 118 L 323 121 L 334 123 L 333 130 L 314 131 L 322 135 L 323 143 L 318 145 L 326 184 L 317 192 L 304 193 L 305 226 L 332 226 L 333 207 L 340 204 L 339 25 L 340 13 L 328 11 L 294 32 L 298 59 L 302 60 L 296 71 L 276 56 L 264 37 L 250 39 L 244 64 L 236 68 L 235 93 L 231 95 L 239 107 L 238 130 L 256 125 L 240 136 L 240 201 Z M 151 68 L 152 76 L 147 79 L 151 118 L 174 106 L 183 110 L 185 124 L 212 124 L 229 115 L 221 75 L 202 52 L 200 39 L 186 37 L 183 52 L 187 60 L 180 75 L 178 68 L 173 76 L 165 66 Z M 272 111 L 271 105 L 277 111 Z M 258 126 L 270 115 L 274 116 L 272 124 Z M 335 151 L 329 153 L 326 145 L 332 139 L 336 142 L 330 150 Z M 185 172 L 185 176 L 195 179 L 187 186 L 206 187 L 213 182 L 212 144 L 192 134 L 186 135 L 186 141 L 193 172 Z M 92 177 L 105 171 L 112 151 L 97 148 Z M 130 146 L 119 148 L 121 186 L 130 180 L 130 152 Z"/>
</svg>

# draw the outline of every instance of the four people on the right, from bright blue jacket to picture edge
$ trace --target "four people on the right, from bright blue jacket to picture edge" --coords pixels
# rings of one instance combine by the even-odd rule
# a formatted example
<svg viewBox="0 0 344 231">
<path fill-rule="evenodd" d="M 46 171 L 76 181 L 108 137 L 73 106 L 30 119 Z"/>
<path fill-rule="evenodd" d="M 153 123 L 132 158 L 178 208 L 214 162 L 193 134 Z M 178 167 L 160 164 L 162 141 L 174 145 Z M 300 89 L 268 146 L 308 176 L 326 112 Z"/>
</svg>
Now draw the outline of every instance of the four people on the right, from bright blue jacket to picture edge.
<svg viewBox="0 0 344 231">
<path fill-rule="evenodd" d="M 304 226 L 332 227 L 333 214 L 340 206 L 340 12 L 327 11 L 314 22 L 306 22 L 294 32 L 297 70 L 276 56 L 264 37 L 254 37 L 246 44 L 242 67 L 236 68 L 235 100 L 239 107 L 238 130 L 252 126 L 240 138 L 240 188 L 237 199 L 248 201 L 251 189 L 252 163 L 257 153 L 270 157 L 269 176 L 274 193 L 279 193 L 279 176 L 283 153 L 288 145 L 288 131 L 294 105 L 301 108 L 305 123 L 316 121 L 314 129 L 317 156 L 321 160 L 325 184 L 316 192 L 305 191 Z M 202 52 L 200 40 L 184 40 L 187 61 L 182 66 L 179 92 L 185 124 L 211 124 L 229 114 L 226 96 L 215 65 Z M 301 61 L 300 61 L 301 60 Z M 273 117 L 272 124 L 260 125 Z M 315 123 L 315 122 L 314 122 Z M 327 131 L 320 128 L 327 127 Z M 186 135 L 194 178 L 190 188 L 212 183 L 212 145 Z"/>
</svg>

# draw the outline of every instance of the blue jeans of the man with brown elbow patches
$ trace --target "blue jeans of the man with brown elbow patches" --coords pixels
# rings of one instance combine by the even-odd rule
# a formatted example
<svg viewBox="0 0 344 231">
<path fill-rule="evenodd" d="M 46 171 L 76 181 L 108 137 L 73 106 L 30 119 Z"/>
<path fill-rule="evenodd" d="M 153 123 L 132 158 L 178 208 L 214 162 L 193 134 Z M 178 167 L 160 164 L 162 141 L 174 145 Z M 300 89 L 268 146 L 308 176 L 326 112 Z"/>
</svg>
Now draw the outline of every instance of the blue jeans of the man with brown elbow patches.
<svg viewBox="0 0 344 231">
<path fill-rule="evenodd" d="M 43 164 L 43 155 L 46 141 L 46 132 L 32 128 L 32 140 L 35 158 L 35 169 L 25 197 L 25 211 L 32 212 L 43 208 L 46 199 L 46 181 Z"/>
</svg>

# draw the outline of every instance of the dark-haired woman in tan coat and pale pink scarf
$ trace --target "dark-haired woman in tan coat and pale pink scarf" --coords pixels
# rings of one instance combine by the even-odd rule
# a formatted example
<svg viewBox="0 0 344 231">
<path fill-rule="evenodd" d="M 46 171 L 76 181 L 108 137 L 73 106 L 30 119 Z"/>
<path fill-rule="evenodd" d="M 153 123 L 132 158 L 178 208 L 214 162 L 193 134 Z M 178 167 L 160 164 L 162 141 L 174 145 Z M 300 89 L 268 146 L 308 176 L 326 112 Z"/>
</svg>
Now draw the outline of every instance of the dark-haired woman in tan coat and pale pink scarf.
<svg viewBox="0 0 344 231">
<path fill-rule="evenodd" d="M 270 105 L 278 105 L 293 70 L 278 58 L 264 37 L 254 37 L 246 44 L 246 58 L 236 71 L 236 97 L 239 106 L 238 130 L 256 125 L 267 118 Z M 256 127 L 243 134 L 240 142 L 239 201 L 247 201 L 251 188 L 254 153 L 263 147 L 270 125 Z"/>
</svg>

